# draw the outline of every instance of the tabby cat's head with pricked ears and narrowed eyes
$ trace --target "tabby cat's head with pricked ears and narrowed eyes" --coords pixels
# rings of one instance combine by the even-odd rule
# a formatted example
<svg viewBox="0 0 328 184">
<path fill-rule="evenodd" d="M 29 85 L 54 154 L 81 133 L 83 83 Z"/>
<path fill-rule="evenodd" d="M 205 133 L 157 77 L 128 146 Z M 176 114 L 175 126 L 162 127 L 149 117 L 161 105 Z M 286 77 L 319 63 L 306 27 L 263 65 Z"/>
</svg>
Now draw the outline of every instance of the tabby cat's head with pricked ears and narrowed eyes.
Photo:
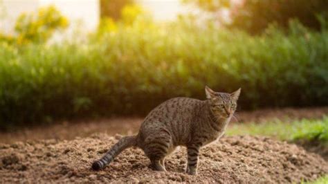
<svg viewBox="0 0 328 184">
<path fill-rule="evenodd" d="M 220 118 L 229 118 L 233 116 L 237 108 L 237 100 L 241 89 L 233 93 L 219 93 L 205 86 L 206 98 L 210 102 L 210 109 Z"/>
</svg>

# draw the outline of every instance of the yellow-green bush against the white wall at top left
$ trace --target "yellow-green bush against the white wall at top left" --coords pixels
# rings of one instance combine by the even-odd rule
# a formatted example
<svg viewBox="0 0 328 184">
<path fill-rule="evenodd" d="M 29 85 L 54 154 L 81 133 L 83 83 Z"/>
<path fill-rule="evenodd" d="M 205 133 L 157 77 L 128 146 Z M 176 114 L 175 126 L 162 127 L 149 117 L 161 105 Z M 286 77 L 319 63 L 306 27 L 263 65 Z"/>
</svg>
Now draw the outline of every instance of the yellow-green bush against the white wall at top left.
<svg viewBox="0 0 328 184">
<path fill-rule="evenodd" d="M 37 13 L 20 15 L 15 25 L 15 36 L 0 34 L 0 42 L 9 44 L 44 43 L 58 29 L 68 26 L 68 21 L 54 7 L 40 8 Z"/>
</svg>

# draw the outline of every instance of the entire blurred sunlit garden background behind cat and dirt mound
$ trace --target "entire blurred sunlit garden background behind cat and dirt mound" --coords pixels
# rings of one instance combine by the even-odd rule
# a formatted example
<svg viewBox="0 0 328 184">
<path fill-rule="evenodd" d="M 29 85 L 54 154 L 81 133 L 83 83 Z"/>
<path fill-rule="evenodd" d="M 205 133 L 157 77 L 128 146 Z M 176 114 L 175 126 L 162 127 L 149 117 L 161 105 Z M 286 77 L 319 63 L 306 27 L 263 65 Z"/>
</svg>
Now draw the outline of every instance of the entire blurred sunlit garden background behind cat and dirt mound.
<svg viewBox="0 0 328 184">
<path fill-rule="evenodd" d="M 0 0 L 0 140 L 134 134 L 204 86 L 242 87 L 227 134 L 327 158 L 327 0 Z"/>
</svg>

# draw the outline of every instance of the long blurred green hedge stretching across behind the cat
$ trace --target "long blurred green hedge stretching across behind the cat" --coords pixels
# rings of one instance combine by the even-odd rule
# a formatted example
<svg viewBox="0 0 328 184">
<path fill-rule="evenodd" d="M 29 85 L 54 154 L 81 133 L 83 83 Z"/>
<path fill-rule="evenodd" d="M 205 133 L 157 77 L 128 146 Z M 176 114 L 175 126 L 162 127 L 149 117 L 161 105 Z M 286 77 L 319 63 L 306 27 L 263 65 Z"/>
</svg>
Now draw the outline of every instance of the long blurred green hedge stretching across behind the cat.
<svg viewBox="0 0 328 184">
<path fill-rule="evenodd" d="M 239 108 L 328 104 L 328 31 L 199 28 L 190 19 L 130 26 L 89 42 L 0 42 L 0 126 L 51 118 L 144 115 L 176 96 L 242 87 Z"/>
</svg>

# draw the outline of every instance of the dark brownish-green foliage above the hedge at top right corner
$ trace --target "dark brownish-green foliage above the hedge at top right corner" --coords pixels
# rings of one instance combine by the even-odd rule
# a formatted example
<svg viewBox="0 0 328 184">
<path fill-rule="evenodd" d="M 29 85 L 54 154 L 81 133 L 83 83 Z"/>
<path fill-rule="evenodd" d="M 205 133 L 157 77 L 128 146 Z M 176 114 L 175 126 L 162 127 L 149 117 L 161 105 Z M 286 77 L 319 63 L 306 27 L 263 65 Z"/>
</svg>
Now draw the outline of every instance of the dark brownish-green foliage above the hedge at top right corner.
<svg viewBox="0 0 328 184">
<path fill-rule="evenodd" d="M 232 3 L 226 0 L 183 0 L 194 3 L 202 10 L 218 12 L 230 10 L 232 28 L 241 28 L 248 33 L 262 33 L 275 23 L 287 28 L 291 19 L 298 19 L 304 26 L 320 30 L 318 15 L 327 20 L 327 0 L 243 0 Z M 237 3 L 238 2 L 238 3 Z"/>
</svg>

